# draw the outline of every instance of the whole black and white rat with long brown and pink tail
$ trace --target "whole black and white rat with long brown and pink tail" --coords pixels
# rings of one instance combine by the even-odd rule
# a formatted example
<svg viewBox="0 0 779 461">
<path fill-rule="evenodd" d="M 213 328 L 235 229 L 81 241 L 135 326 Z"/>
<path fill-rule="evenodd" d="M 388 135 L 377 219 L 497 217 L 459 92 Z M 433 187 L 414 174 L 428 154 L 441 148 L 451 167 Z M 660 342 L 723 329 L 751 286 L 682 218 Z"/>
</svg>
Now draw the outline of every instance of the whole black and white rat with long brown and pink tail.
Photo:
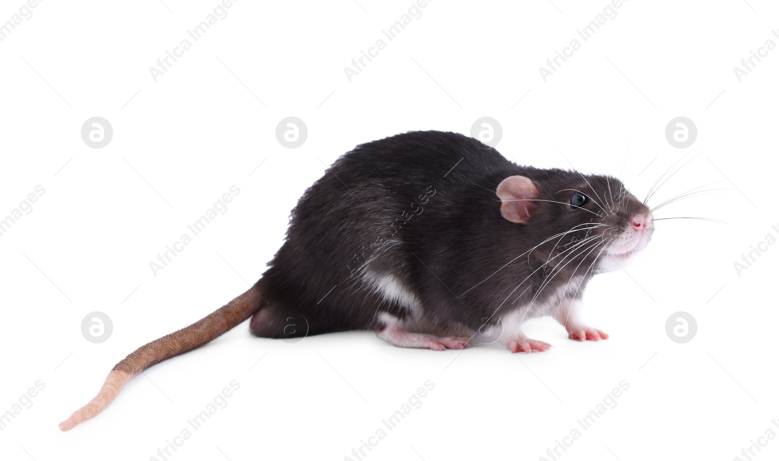
<svg viewBox="0 0 779 461">
<path fill-rule="evenodd" d="M 397 347 L 463 349 L 478 337 L 530 353 L 550 345 L 525 336 L 523 322 L 550 315 L 570 339 L 605 340 L 581 318 L 584 288 L 653 232 L 650 209 L 611 176 L 521 166 L 453 132 L 361 144 L 305 191 L 259 281 L 129 354 L 59 427 L 96 416 L 141 371 L 247 318 L 264 338 L 374 329 Z"/>
</svg>

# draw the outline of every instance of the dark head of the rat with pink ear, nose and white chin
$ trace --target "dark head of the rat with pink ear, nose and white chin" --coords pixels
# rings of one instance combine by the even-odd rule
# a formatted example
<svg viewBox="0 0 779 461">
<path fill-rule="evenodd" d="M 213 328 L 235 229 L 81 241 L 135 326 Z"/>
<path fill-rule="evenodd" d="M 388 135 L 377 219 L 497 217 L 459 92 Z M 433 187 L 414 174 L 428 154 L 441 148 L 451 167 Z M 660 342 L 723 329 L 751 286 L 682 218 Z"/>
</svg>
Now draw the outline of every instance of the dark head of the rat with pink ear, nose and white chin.
<svg viewBox="0 0 779 461">
<path fill-rule="evenodd" d="M 502 216 L 523 227 L 551 267 L 619 269 L 649 243 L 652 213 L 619 179 L 557 169 L 532 176 L 509 176 L 495 192 Z"/>
</svg>

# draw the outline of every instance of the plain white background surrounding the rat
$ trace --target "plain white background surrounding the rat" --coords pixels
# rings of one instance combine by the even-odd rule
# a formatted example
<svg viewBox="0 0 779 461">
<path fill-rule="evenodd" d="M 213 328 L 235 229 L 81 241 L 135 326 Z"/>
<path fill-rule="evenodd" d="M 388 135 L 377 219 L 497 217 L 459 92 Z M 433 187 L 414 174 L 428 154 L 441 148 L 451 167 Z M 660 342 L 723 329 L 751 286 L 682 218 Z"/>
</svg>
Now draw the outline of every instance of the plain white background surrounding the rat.
<svg viewBox="0 0 779 461">
<path fill-rule="evenodd" d="M 46 190 L 0 237 L 0 412 L 33 382 L 46 385 L 0 431 L 0 457 L 162 459 L 157 449 L 231 380 L 241 388 L 228 406 L 168 459 L 344 459 L 428 379 L 423 405 L 364 459 L 539 459 L 621 380 L 630 387 L 618 405 L 559 459 L 733 459 L 768 428 L 779 433 L 779 245 L 740 276 L 733 266 L 779 224 L 779 51 L 740 83 L 733 72 L 767 39 L 779 43 L 777 5 L 630 0 L 544 82 L 539 66 L 606 0 L 435 0 L 350 83 L 344 67 L 412 5 L 358 2 L 235 2 L 156 83 L 150 66 L 217 0 L 47 0 L 0 42 L 0 216 L 36 185 Z M 4 0 L 0 21 L 21 5 Z M 682 150 L 664 136 L 680 115 L 698 128 Z M 114 128 L 98 150 L 80 137 L 94 116 Z M 287 116 L 308 126 L 298 149 L 276 139 Z M 657 221 L 627 272 L 597 276 L 585 315 L 607 341 L 568 340 L 548 318 L 525 331 L 554 348 L 530 355 L 400 349 L 372 332 L 292 344 L 243 324 L 59 431 L 125 354 L 257 280 L 325 165 L 399 132 L 467 134 L 482 116 L 501 123 L 506 157 L 622 171 L 642 199 L 700 153 L 653 204 L 714 181 L 728 190 L 656 217 L 728 224 Z M 227 212 L 153 276 L 149 262 L 231 185 L 241 193 Z M 104 343 L 82 336 L 91 311 L 113 321 Z M 697 320 L 689 343 L 665 333 L 675 311 Z M 774 440 L 758 459 L 777 456 Z"/>
</svg>

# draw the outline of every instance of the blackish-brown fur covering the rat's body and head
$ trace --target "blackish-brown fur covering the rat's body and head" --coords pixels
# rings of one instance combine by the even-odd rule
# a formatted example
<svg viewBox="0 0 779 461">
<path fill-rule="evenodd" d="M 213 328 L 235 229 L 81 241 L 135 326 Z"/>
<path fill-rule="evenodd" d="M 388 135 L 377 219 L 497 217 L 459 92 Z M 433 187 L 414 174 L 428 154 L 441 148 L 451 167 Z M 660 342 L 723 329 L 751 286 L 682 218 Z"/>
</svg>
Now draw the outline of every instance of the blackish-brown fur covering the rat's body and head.
<svg viewBox="0 0 779 461">
<path fill-rule="evenodd" d="M 538 199 L 563 203 L 535 202 L 527 225 L 509 222 L 501 216 L 495 189 L 512 175 L 534 181 Z M 435 195 L 429 195 L 429 186 Z M 576 192 L 562 189 L 590 196 L 584 208 L 601 216 L 566 205 Z M 421 204 L 425 192 L 428 202 Z M 608 209 L 603 202 L 612 200 L 617 205 L 614 215 L 595 203 Z M 361 278 L 368 268 L 403 280 L 421 299 L 428 320 L 445 329 L 475 331 L 499 305 L 497 315 L 530 303 L 554 273 L 553 264 L 512 290 L 547 261 L 558 241 L 516 259 L 488 279 L 507 262 L 577 224 L 609 224 L 590 230 L 590 236 L 628 226 L 628 216 L 643 209 L 646 206 L 615 178 L 519 166 L 456 133 L 409 132 L 362 144 L 308 188 L 292 212 L 287 240 L 256 285 L 268 305 L 252 318 L 252 333 L 285 337 L 371 329 L 377 326 L 377 311 L 407 315 L 368 289 Z M 562 238 L 555 254 L 586 234 L 580 230 Z M 382 246 L 382 238 L 392 243 Z M 565 286 L 577 266 L 577 275 L 583 275 L 600 249 L 573 258 L 535 302 L 541 304 L 554 289 Z M 569 294 L 580 296 L 593 272 L 581 287 L 573 284 Z M 289 328 L 292 323 L 297 327 Z"/>
</svg>

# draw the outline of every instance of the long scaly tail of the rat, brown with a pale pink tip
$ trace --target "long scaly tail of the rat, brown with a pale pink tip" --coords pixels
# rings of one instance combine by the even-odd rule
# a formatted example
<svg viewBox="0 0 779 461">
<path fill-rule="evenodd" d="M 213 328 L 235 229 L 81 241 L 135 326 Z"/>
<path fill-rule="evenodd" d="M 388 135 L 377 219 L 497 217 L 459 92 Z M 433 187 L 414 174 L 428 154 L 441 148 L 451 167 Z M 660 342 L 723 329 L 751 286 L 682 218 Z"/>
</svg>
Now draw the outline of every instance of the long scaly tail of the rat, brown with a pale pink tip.
<svg viewBox="0 0 779 461">
<path fill-rule="evenodd" d="M 62 421 L 59 424 L 59 428 L 62 431 L 69 431 L 76 424 L 83 423 L 91 417 L 97 416 L 116 398 L 119 391 L 133 376 L 138 375 L 153 364 L 158 364 L 171 357 L 184 354 L 216 339 L 222 333 L 227 332 L 227 330 L 237 326 L 256 311 L 259 311 L 263 304 L 265 304 L 265 301 L 257 292 L 255 285 L 246 293 L 241 294 L 241 296 L 236 297 L 222 308 L 207 315 L 206 318 L 202 318 L 198 322 L 175 333 L 163 336 L 159 340 L 154 340 L 143 347 L 139 347 L 135 352 L 116 364 L 114 369 L 108 373 L 108 378 L 105 379 L 100 392 L 97 392 L 97 396 L 90 403 L 77 410 L 76 413 L 73 413 L 67 420 Z"/>
</svg>

